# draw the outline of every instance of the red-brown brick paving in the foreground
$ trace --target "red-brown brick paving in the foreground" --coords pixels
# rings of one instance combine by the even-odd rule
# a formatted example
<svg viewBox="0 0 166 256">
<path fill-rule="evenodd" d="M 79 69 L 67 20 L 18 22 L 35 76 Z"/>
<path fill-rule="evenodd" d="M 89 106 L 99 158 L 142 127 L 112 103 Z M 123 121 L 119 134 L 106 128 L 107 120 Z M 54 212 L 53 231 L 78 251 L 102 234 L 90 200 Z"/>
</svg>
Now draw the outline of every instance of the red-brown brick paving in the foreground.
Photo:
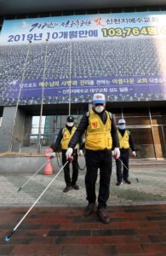
<svg viewBox="0 0 166 256">
<path fill-rule="evenodd" d="M 1 209 L 1 256 L 166 255 L 166 205 L 109 207 L 110 224 L 83 207 L 35 208 L 5 242 L 26 210 Z"/>
</svg>

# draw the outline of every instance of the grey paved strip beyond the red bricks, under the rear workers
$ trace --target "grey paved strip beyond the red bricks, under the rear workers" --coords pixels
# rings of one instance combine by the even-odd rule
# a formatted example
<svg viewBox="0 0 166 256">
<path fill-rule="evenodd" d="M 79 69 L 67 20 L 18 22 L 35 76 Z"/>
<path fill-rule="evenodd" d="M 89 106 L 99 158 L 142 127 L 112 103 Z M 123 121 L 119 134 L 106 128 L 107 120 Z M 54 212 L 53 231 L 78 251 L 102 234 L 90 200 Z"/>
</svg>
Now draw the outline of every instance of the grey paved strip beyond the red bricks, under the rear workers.
<svg viewBox="0 0 166 256">
<path fill-rule="evenodd" d="M 79 161 L 80 167 L 84 162 Z M 31 177 L 32 173 L 23 174 L 23 172 L 8 174 L 0 173 L 0 205 L 1 207 L 31 207 L 37 197 L 43 192 L 43 189 L 54 178 L 55 173 L 60 170 L 56 166 L 53 175 L 40 174 L 33 177 L 26 186 L 18 189 Z M 77 184 L 79 190 L 70 190 L 63 193 L 65 187 L 63 172 L 54 180 L 49 189 L 43 195 L 37 207 L 83 207 L 87 204 L 84 186 L 85 170 L 79 172 Z M 99 187 L 99 176 L 96 182 L 96 191 Z M 119 205 L 138 205 L 138 204 L 155 204 L 166 201 L 166 160 L 130 160 L 129 178 L 131 185 L 123 184 L 116 186 L 115 166 L 112 170 L 111 194 L 108 200 L 108 206 Z M 136 178 L 139 178 L 137 183 Z"/>
</svg>

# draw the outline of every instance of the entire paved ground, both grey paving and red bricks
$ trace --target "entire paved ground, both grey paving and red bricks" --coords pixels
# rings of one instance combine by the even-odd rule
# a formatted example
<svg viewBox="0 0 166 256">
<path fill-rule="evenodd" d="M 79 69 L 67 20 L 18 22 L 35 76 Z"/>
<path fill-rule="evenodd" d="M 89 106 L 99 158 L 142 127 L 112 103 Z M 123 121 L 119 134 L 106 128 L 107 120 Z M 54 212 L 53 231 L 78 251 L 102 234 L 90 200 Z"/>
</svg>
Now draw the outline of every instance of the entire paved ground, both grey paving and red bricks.
<svg viewBox="0 0 166 256">
<path fill-rule="evenodd" d="M 5 236 L 54 175 L 37 175 L 15 197 L 30 175 L 1 174 L 0 256 L 166 256 L 165 163 L 133 162 L 132 184 L 119 188 L 113 171 L 108 201 L 110 224 L 101 224 L 95 214 L 83 216 L 87 204 L 84 171 L 79 175 L 80 190 L 66 194 L 62 193 L 64 181 L 60 174 L 9 242 L 4 241 Z M 140 183 L 135 177 L 139 177 Z"/>
</svg>

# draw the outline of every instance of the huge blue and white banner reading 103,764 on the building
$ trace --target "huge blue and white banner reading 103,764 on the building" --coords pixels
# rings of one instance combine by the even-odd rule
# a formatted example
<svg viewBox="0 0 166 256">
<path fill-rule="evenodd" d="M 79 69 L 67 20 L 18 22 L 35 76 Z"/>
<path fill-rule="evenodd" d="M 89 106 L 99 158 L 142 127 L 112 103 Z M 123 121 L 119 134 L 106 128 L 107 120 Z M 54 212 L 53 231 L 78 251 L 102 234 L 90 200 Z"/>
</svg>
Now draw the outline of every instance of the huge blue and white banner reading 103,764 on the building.
<svg viewBox="0 0 166 256">
<path fill-rule="evenodd" d="M 0 105 L 165 100 L 165 45 L 166 12 L 4 20 Z"/>
</svg>

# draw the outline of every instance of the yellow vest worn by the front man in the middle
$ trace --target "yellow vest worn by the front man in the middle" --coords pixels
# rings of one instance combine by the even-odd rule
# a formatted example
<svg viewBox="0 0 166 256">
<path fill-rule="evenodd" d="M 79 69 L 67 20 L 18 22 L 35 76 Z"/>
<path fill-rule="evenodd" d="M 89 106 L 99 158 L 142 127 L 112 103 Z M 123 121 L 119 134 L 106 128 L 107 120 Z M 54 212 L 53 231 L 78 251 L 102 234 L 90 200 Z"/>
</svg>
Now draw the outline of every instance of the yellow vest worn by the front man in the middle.
<svg viewBox="0 0 166 256">
<path fill-rule="evenodd" d="M 85 148 L 90 150 L 103 150 L 112 148 L 112 121 L 106 111 L 107 119 L 104 125 L 97 113 L 91 109 L 89 112 L 89 126 L 85 135 Z"/>
</svg>

